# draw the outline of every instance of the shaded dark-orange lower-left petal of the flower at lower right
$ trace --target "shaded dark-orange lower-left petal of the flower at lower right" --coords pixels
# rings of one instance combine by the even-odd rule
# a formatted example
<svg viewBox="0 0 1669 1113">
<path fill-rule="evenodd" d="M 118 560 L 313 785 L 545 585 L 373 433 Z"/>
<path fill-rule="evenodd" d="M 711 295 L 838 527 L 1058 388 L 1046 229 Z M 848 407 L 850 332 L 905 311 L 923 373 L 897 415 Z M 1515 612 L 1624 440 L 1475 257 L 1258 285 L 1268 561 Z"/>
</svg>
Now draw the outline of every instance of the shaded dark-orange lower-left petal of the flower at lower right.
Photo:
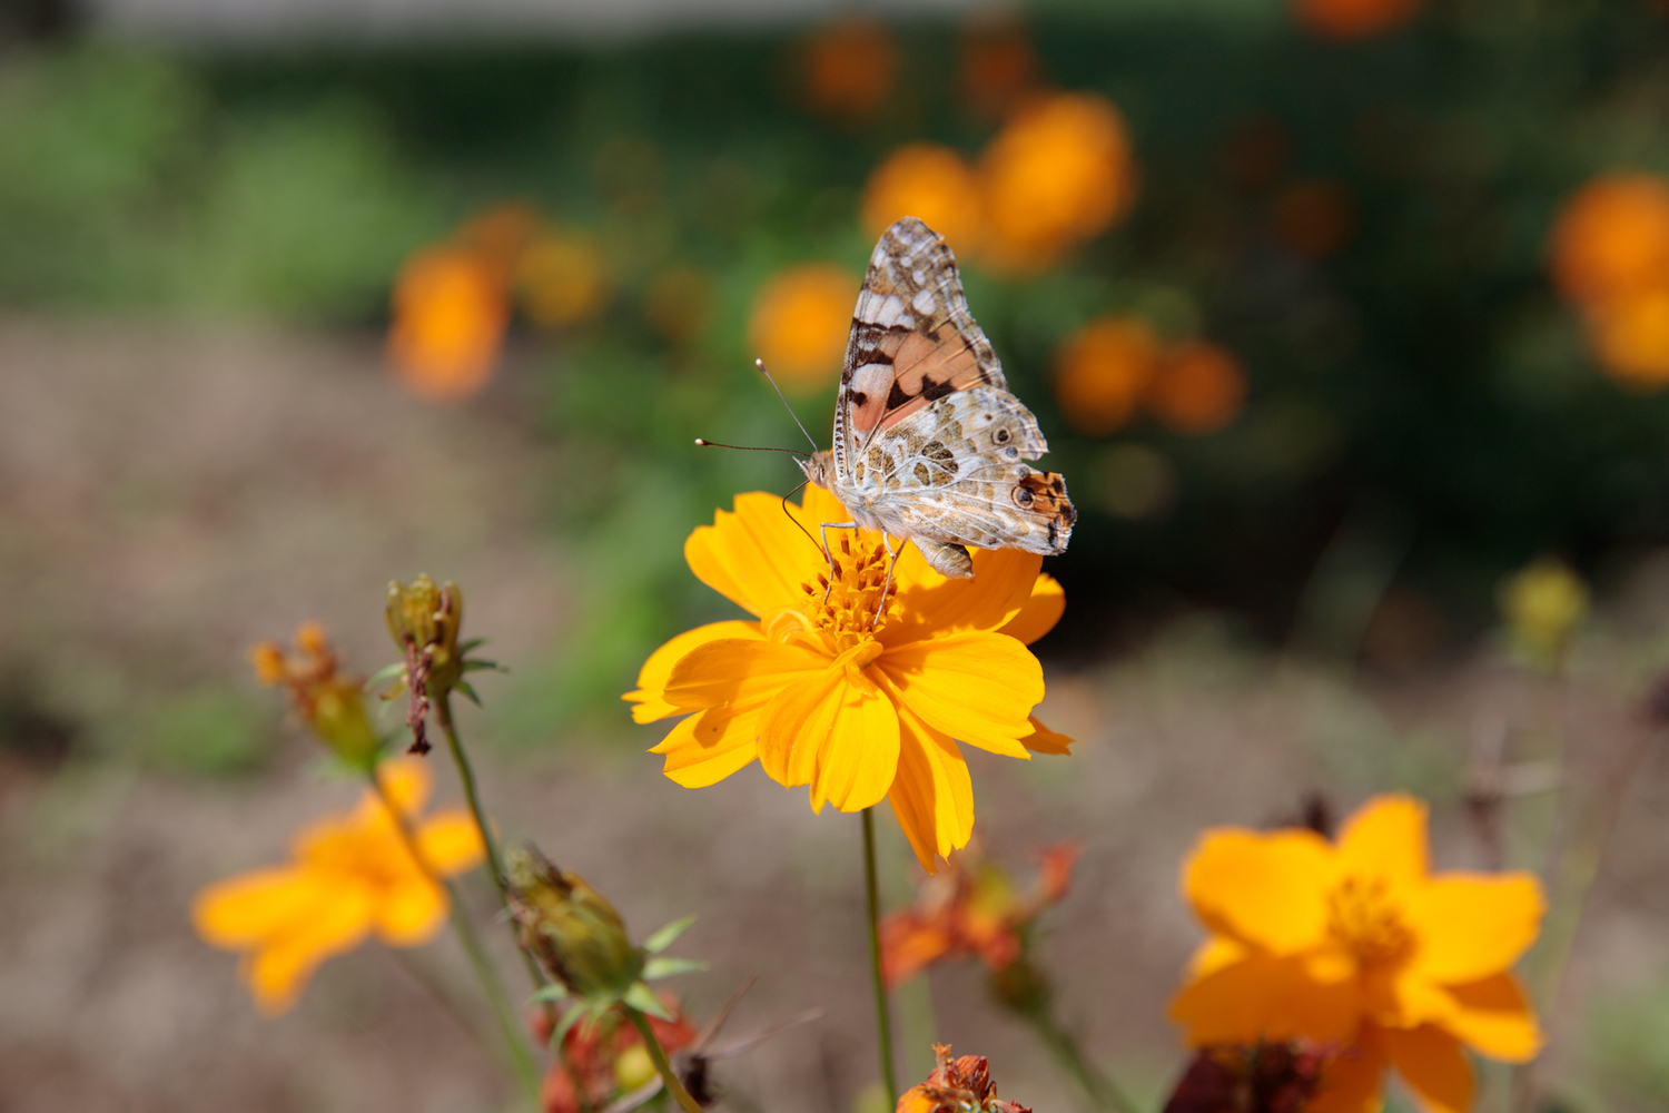
<svg viewBox="0 0 1669 1113">
<path fill-rule="evenodd" d="M 1192 1046 L 1260 1040 L 1335 1043 L 1355 1031 L 1360 996 L 1354 981 L 1315 981 L 1297 954 L 1250 953 L 1193 978 L 1170 1003 L 1170 1018 Z"/>
</svg>

